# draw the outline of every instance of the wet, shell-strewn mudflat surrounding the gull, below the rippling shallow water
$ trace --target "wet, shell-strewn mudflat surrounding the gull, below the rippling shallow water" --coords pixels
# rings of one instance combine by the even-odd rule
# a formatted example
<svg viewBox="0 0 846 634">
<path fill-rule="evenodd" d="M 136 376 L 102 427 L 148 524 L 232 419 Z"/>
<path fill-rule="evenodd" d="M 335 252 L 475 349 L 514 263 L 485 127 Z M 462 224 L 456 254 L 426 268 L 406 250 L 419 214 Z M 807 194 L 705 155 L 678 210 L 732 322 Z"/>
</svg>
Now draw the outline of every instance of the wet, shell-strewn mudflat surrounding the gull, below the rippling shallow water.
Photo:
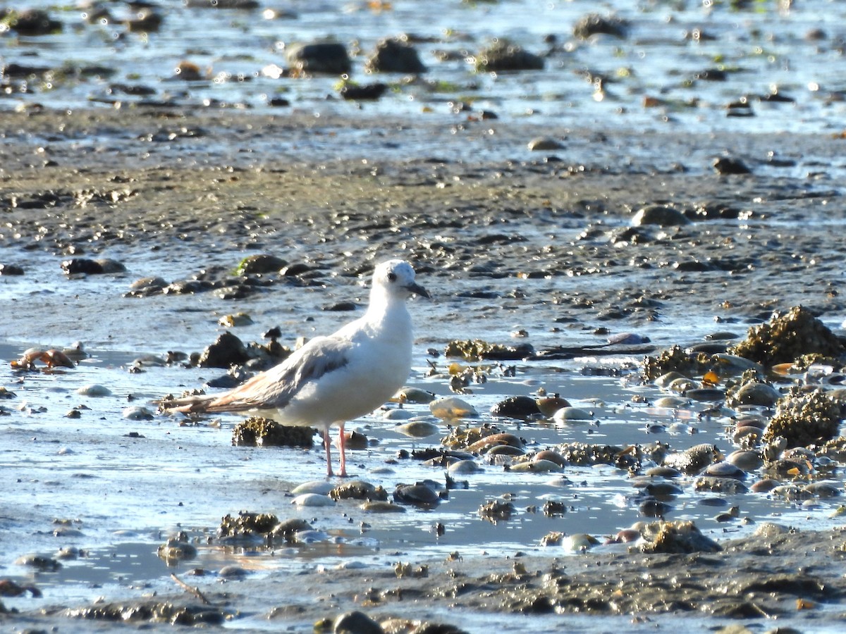
<svg viewBox="0 0 846 634">
<path fill-rule="evenodd" d="M 741 410 L 690 399 L 658 404 L 668 392 L 642 382 L 645 355 L 703 342 L 717 331 L 743 339 L 772 310 L 799 303 L 839 331 L 843 246 L 838 216 L 829 211 L 837 192 L 807 180 L 727 178 L 710 169 L 574 172 L 530 155 L 491 163 L 409 157 L 273 167 L 275 158 L 259 150 L 266 131 L 281 124 L 275 118 L 180 114 L 174 123 L 168 115 L 168 126 L 205 130 L 184 147 L 186 141 L 139 140 L 141 130 L 162 120 L 155 112 L 137 114 L 15 115 L 10 129 L 25 132 L 3 148 L 9 158 L 3 260 L 24 271 L 0 278 L 4 314 L 11 316 L 3 325 L 3 358 L 18 359 L 30 345 L 76 341 L 91 355 L 73 369 L 47 371 L 36 361 L 35 372 L 8 363 L 3 370 L 3 384 L 14 392 L 4 402 L 3 462 L 16 474 L 3 484 L 3 524 L 15 536 L 3 576 L 41 593 L 3 598 L 7 609 L 19 610 L 8 618 L 70 630 L 108 629 L 126 618 L 307 629 L 360 609 L 378 620 L 403 615 L 468 631 L 483 623 L 522 629 L 526 619 L 544 626 L 560 622 L 556 613 L 584 612 L 599 618 L 564 618 L 585 631 L 609 623 L 637 630 L 680 614 L 702 627 L 740 619 L 826 631 L 838 618 L 837 495 L 708 492 L 696 488 L 691 472 L 673 484 L 679 490 L 661 510 L 632 486 L 635 473 L 661 462 L 648 453 L 656 443 L 670 453 L 714 443 L 723 455 L 739 445 L 733 434 Z M 340 123 L 335 130 L 343 139 L 350 133 Z M 310 128 L 284 125 L 299 134 Z M 259 149 L 258 160 L 233 152 L 231 165 L 213 165 L 214 148 L 226 145 L 233 128 Z M 97 130 L 112 130 L 110 141 L 96 144 L 108 149 L 107 161 L 74 147 L 92 144 Z M 53 134 L 55 165 L 32 167 L 31 146 L 20 142 L 30 134 Z M 379 138 L 373 128 L 367 134 Z M 707 154 L 711 139 L 700 141 Z M 818 142 L 821 156 L 835 147 L 833 139 Z M 703 201 L 734 207 L 738 217 L 697 216 Z M 656 205 L 689 216 L 689 224 L 634 225 L 637 210 Z M 299 272 L 237 274 L 245 256 L 265 253 L 299 265 L 291 270 Z M 291 505 L 297 485 L 321 478 L 318 445 L 233 447 L 238 417 L 190 421 L 156 413 L 153 399 L 225 372 L 166 365 L 168 351 L 199 352 L 225 330 L 261 342 L 278 325 L 285 345 L 330 331 L 351 317 L 327 309 L 362 306 L 363 281 L 382 254 L 414 261 L 436 293 L 434 301 L 412 305 L 417 345 L 409 385 L 437 396 L 464 391 L 454 396 L 481 418 L 431 418 L 437 434 L 418 440 L 381 413 L 362 419 L 354 427 L 369 442 L 353 454 L 354 478 L 389 494 L 399 484 L 429 480 L 446 498 L 437 508 L 374 514 L 360 508 L 361 500 Z M 62 268 L 102 258 L 126 271 L 69 275 Z M 150 276 L 208 285 L 132 296 L 133 282 Z M 220 325 L 239 312 L 250 314 L 252 324 Z M 625 332 L 642 342 L 608 349 L 609 336 Z M 446 344 L 462 339 L 528 344 L 533 353 L 530 360 L 444 358 Z M 459 364 L 466 381 L 448 373 L 450 363 Z M 805 380 L 815 371 L 836 385 L 837 369 L 812 370 Z M 799 376 L 783 379 L 779 389 Z M 482 377 L 486 382 L 477 382 Z M 108 393 L 77 392 L 90 385 Z M 507 397 L 536 396 L 539 388 L 560 393 L 591 418 L 490 414 Z M 136 407 L 152 418 L 124 418 Z M 405 408 L 429 413 L 426 404 Z M 754 409 L 766 414 L 766 407 Z M 66 418 L 74 410 L 79 418 Z M 459 485 L 446 491 L 448 462 L 432 467 L 406 457 L 440 451 L 457 425 L 482 424 L 519 436 L 528 456 L 567 449 L 570 464 L 561 473 L 503 471 L 503 458 L 478 454 L 479 471 L 453 473 Z M 631 468 L 619 456 L 580 463 L 573 443 L 617 447 L 612 454 L 619 456 L 638 455 L 625 450 L 638 446 L 648 456 Z M 842 492 L 837 462 L 805 460 L 810 472 L 791 474 L 788 467 L 779 484 L 821 480 Z M 750 469 L 744 486 L 763 477 L 760 468 Z M 656 521 L 656 509 L 667 520 L 695 522 L 722 550 L 650 555 L 629 554 L 629 544 L 602 545 L 635 522 Z M 259 535 L 233 544 L 218 529 L 222 516 L 239 511 L 299 518 L 310 529 L 291 543 L 268 545 Z M 767 522 L 782 528 L 765 526 L 756 535 Z M 162 559 L 159 549 L 180 532 L 195 552 Z M 63 559 L 59 550 L 67 548 Z M 20 559 L 28 555 L 47 564 Z M 678 575 L 691 581 L 680 583 Z M 472 610 L 459 617 L 451 606 Z"/>
</svg>

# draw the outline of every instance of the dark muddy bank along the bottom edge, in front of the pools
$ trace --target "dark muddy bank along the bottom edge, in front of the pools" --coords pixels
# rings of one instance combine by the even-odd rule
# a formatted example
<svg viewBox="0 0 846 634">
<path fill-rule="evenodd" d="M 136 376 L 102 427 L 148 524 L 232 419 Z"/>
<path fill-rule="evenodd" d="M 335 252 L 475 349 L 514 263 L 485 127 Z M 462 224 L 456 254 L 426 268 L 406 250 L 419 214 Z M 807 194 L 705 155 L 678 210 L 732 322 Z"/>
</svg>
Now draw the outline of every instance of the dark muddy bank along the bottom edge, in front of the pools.
<svg viewBox="0 0 846 634">
<path fill-rule="evenodd" d="M 174 577 L 174 593 L 140 601 L 61 606 L 41 614 L 0 614 L 19 626 L 105 631 L 115 622 L 221 623 L 250 628 L 265 621 L 300 631 L 359 610 L 387 626 L 420 623 L 480 631 L 482 622 L 518 631 L 567 624 L 576 615 L 624 617 L 621 631 L 688 615 L 691 623 L 794 627 L 826 631 L 843 619 L 843 529 L 821 533 L 763 527 L 759 535 L 728 540 L 722 552 L 677 555 L 584 555 L 551 558 L 531 553 L 494 559 L 456 552 L 448 560 L 406 560 L 395 566 L 302 572 L 292 577 L 221 583 L 202 571 Z M 179 592 L 179 587 L 184 592 Z M 531 617 L 531 619 L 530 619 Z M 537 620 L 546 617 L 544 620 Z M 676 621 L 674 621 L 676 622 Z M 542 624 L 542 625 L 541 625 Z M 692 626 L 692 625 L 691 625 Z M 371 630 L 362 630 L 371 631 Z M 376 630 L 373 630 L 376 631 Z M 436 630 L 414 630 L 436 631 Z"/>
</svg>

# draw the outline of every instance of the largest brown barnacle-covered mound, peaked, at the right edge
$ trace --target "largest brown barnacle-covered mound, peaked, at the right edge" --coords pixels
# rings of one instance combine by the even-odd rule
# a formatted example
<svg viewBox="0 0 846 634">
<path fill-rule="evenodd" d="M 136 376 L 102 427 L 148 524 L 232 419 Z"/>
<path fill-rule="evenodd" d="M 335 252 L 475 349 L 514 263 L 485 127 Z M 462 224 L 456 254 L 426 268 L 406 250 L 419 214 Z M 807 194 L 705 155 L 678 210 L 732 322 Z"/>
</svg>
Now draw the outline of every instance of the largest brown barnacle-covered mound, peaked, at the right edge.
<svg viewBox="0 0 846 634">
<path fill-rule="evenodd" d="M 729 349 L 765 365 L 791 363 L 810 353 L 838 358 L 846 353 L 843 340 L 802 306 L 773 314 L 766 324 L 749 329 L 746 339 Z"/>
</svg>

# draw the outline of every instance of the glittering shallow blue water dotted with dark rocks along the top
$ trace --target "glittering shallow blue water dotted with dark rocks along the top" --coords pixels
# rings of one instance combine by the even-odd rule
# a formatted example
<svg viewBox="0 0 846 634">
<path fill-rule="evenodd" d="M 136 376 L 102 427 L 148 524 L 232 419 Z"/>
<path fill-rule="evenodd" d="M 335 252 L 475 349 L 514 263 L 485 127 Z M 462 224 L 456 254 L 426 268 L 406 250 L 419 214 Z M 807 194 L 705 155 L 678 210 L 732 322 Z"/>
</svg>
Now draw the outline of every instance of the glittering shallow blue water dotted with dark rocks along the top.
<svg viewBox="0 0 846 634">
<path fill-rule="evenodd" d="M 266 108 L 282 96 L 295 110 L 375 114 L 409 118 L 448 112 L 450 104 L 470 102 L 475 111 L 496 112 L 506 120 L 533 119 L 550 127 L 678 128 L 683 132 L 729 130 L 738 134 L 831 133 L 843 127 L 843 24 L 846 8 L 832 0 L 803 3 L 640 2 L 596 3 L 458 2 L 412 0 L 393 3 L 274 3 L 285 15 L 265 19 L 261 10 L 186 8 L 160 3 L 157 32 L 133 33 L 122 24 L 131 12 L 109 5 L 113 20 L 89 24 L 90 8 L 74 3 L 33 0 L 29 7 L 51 8 L 63 22 L 52 36 L 3 35 L 7 63 L 49 68 L 91 68 L 32 78 L 3 101 L 6 107 L 41 102 L 82 107 L 93 102 L 163 101 L 202 107 Z M 586 14 L 616 15 L 628 35 L 572 34 Z M 691 34 L 701 32 L 695 39 Z M 365 74 L 366 57 L 382 38 L 413 37 L 424 80 Z M 353 53 L 351 78 L 362 84 L 385 81 L 387 96 L 377 102 L 337 98 L 337 77 L 270 79 L 262 68 L 285 66 L 284 51 L 296 41 L 331 38 Z M 473 57 L 494 38 L 505 38 L 545 57 L 541 71 L 478 74 Z M 554 38 L 552 40 L 551 38 Z M 441 52 L 453 58 L 440 61 Z M 209 79 L 174 78 L 188 60 Z M 723 80 L 696 79 L 721 70 Z M 109 72 L 107 72 L 109 71 Z M 111 76 L 109 76 L 111 74 Z M 713 73 L 711 73 L 713 77 Z M 602 78 L 603 90 L 594 79 Z M 127 96 L 114 85 L 145 86 L 152 96 Z M 793 101 L 761 100 L 777 91 Z M 329 101 L 327 101 L 327 96 Z M 749 108 L 727 106 L 745 99 Z M 466 113 L 460 118 L 465 118 Z"/>
</svg>

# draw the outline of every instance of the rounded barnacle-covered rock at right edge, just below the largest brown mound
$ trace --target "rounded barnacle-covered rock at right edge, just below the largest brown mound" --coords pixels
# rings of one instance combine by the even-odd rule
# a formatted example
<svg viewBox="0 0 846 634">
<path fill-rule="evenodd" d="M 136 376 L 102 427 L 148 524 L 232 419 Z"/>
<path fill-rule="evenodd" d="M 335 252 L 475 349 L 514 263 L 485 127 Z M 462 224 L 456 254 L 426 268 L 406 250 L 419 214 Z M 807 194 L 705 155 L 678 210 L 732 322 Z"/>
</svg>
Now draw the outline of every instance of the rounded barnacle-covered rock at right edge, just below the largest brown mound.
<svg viewBox="0 0 846 634">
<path fill-rule="evenodd" d="M 791 390 L 776 404 L 776 415 L 764 431 L 763 440 L 778 436 L 788 447 L 822 445 L 838 434 L 843 419 L 843 404 L 824 391 L 799 393 Z"/>
</svg>

